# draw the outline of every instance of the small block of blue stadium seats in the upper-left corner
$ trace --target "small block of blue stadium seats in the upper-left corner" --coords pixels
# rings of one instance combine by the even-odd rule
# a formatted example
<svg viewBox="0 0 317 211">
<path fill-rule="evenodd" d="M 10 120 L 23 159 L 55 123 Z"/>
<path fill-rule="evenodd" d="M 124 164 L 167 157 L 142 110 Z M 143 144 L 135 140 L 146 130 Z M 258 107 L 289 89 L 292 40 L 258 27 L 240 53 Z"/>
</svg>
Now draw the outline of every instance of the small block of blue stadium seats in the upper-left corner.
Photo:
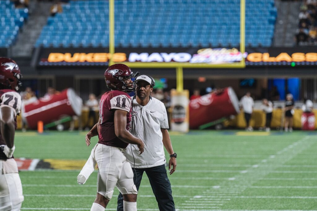
<svg viewBox="0 0 317 211">
<path fill-rule="evenodd" d="M 28 9 L 16 9 L 10 0 L 0 0 L 0 47 L 8 48 L 15 43 L 19 29 L 28 16 Z"/>
</svg>

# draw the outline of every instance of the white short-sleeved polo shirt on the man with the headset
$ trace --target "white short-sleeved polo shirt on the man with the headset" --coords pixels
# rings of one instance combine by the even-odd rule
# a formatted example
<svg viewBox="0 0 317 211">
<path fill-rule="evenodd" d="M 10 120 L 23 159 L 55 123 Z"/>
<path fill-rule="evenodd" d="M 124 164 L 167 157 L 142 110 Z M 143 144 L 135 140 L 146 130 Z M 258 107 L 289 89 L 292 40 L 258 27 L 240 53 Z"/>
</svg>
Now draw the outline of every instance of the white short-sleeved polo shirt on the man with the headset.
<svg viewBox="0 0 317 211">
<path fill-rule="evenodd" d="M 133 100 L 131 133 L 144 141 L 144 152 L 139 155 L 137 145 L 126 147 L 126 158 L 134 168 L 149 168 L 166 163 L 163 135 L 161 128 L 168 129 L 167 113 L 164 103 L 151 97 L 150 101 L 141 106 Z M 134 157 L 134 159 L 133 159 Z"/>
</svg>

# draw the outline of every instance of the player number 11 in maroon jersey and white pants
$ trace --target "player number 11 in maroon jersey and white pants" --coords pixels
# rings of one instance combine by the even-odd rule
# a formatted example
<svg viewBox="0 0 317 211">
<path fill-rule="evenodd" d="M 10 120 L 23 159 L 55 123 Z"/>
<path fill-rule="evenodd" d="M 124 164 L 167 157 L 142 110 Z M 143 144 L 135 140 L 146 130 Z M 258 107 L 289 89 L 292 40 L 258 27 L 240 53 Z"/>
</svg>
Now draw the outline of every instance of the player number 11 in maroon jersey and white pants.
<svg viewBox="0 0 317 211">
<path fill-rule="evenodd" d="M 134 90 L 131 69 L 123 64 L 111 65 L 105 72 L 105 81 L 111 91 L 101 96 L 99 122 L 87 133 L 86 144 L 98 135 L 98 145 L 94 159 L 98 165 L 97 197 L 91 211 L 104 211 L 112 198 L 116 186 L 123 195 L 124 210 L 137 210 L 137 189 L 133 182 L 133 171 L 126 160 L 128 144 L 135 144 L 139 154 L 144 151 L 144 142 L 129 133 L 131 122 L 131 97 L 127 94 Z M 98 133 L 99 132 L 99 133 Z M 84 179 L 78 176 L 78 181 Z"/>
</svg>

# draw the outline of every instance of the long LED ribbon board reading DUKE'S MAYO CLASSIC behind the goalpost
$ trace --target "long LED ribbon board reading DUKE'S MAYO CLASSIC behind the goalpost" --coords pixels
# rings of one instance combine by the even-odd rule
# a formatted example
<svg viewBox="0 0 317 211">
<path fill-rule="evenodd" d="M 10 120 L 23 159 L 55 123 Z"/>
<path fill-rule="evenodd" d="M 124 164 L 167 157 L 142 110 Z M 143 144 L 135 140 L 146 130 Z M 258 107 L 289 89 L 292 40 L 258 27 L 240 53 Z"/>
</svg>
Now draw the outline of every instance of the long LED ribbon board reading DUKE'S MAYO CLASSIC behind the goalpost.
<svg viewBox="0 0 317 211">
<path fill-rule="evenodd" d="M 41 48 L 37 65 L 49 66 L 107 66 L 111 57 L 107 48 Z M 316 47 L 148 47 L 115 49 L 114 62 L 157 62 L 223 64 L 239 62 L 245 58 L 246 66 L 316 66 Z"/>
</svg>

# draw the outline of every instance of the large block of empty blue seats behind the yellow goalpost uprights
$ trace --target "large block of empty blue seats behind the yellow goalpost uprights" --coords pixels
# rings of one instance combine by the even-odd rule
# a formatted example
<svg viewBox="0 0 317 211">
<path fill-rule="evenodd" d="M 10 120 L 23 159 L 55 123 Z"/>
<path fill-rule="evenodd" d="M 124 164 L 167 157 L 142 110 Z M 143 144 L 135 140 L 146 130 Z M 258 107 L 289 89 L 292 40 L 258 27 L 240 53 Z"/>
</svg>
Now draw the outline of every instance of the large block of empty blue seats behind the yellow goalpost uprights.
<svg viewBox="0 0 317 211">
<path fill-rule="evenodd" d="M 108 1 L 70 1 L 48 19 L 36 47 L 108 47 Z M 246 46 L 269 47 L 274 0 L 246 1 Z M 115 46 L 236 47 L 240 0 L 116 0 Z"/>
</svg>

